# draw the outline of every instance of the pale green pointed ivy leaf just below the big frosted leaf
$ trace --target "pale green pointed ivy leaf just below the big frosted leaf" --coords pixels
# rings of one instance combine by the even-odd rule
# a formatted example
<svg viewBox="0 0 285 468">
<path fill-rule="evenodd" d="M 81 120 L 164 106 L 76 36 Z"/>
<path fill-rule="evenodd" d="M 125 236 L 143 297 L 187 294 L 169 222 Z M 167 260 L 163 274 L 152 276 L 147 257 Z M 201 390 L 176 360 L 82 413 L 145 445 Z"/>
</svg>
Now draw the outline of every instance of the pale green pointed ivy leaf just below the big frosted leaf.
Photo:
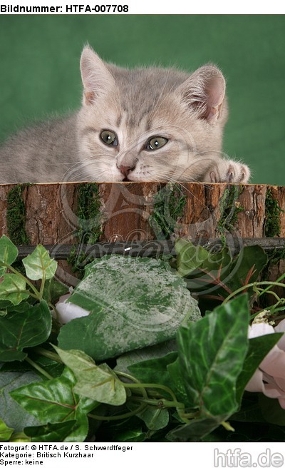
<svg viewBox="0 0 285 468">
<path fill-rule="evenodd" d="M 108 405 L 119 406 L 125 403 L 125 387 L 107 364 L 97 366 L 93 359 L 79 350 L 63 351 L 55 348 L 61 360 L 76 375 L 78 382 L 74 391 L 78 395 Z"/>
</svg>

